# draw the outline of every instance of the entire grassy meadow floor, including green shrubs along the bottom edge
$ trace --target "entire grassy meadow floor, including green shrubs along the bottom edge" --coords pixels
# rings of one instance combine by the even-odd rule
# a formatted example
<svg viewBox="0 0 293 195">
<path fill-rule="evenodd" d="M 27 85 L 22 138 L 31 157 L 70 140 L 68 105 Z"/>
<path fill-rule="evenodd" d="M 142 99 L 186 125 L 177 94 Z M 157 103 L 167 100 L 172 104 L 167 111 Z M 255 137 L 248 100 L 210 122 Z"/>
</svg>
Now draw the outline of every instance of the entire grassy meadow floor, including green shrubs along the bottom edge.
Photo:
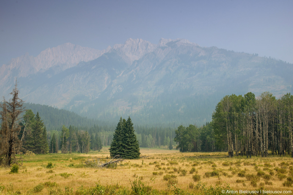
<svg viewBox="0 0 293 195">
<path fill-rule="evenodd" d="M 125 160 L 115 169 L 84 167 L 85 160 L 92 157 L 109 161 L 108 149 L 103 147 L 100 152 L 88 154 L 22 156 L 18 173 L 11 173 L 10 168 L 0 168 L 0 194 L 293 192 L 293 160 L 290 156 L 229 159 L 215 158 L 226 154 L 220 152 L 180 153 L 163 148 L 141 148 L 142 156 L 147 157 Z M 222 190 L 225 193 L 221 193 Z"/>
</svg>

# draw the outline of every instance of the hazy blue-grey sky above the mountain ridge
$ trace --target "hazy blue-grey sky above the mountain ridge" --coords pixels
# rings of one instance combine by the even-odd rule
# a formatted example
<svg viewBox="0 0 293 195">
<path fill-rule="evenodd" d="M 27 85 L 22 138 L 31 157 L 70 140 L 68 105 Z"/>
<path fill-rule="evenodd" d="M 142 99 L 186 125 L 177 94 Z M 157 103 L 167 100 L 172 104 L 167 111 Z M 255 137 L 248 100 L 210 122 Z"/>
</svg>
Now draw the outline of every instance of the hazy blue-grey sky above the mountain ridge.
<svg viewBox="0 0 293 195">
<path fill-rule="evenodd" d="M 0 0 L 0 65 L 67 42 L 102 50 L 161 37 L 293 63 L 293 1 Z"/>
</svg>

